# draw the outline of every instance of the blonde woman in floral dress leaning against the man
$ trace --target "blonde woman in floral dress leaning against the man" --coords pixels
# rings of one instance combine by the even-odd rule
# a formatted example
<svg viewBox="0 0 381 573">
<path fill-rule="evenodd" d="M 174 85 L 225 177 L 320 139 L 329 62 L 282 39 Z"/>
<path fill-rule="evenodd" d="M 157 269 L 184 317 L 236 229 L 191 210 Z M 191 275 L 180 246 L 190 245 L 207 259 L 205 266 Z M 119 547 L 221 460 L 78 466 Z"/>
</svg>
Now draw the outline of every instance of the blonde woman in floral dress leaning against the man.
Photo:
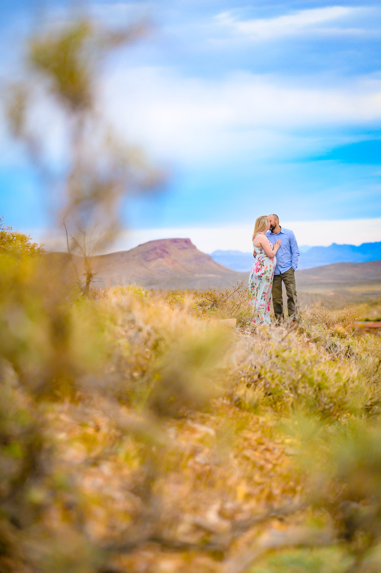
<svg viewBox="0 0 381 573">
<path fill-rule="evenodd" d="M 278 239 L 274 245 L 265 236 L 270 228 L 267 215 L 257 217 L 253 233 L 253 247 L 256 257 L 249 278 L 249 290 L 252 300 L 249 306 L 253 308 L 252 324 L 270 324 L 270 301 L 272 278 L 276 265 L 276 253 L 281 245 Z"/>
</svg>

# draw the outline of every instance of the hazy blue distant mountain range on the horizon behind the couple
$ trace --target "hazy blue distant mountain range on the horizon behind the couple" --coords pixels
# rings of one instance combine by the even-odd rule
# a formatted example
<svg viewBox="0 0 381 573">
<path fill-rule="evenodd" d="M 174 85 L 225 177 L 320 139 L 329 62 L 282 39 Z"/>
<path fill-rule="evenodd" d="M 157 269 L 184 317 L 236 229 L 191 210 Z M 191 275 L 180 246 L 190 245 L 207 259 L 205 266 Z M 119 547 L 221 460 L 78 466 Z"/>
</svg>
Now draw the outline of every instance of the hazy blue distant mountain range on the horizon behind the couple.
<svg viewBox="0 0 381 573">
<path fill-rule="evenodd" d="M 253 253 L 236 250 L 216 250 L 211 254 L 214 261 L 237 272 L 249 272 L 253 264 Z M 328 247 L 300 247 L 298 270 L 313 269 L 315 266 L 332 265 L 337 262 L 368 262 L 381 260 L 381 242 Z"/>
</svg>

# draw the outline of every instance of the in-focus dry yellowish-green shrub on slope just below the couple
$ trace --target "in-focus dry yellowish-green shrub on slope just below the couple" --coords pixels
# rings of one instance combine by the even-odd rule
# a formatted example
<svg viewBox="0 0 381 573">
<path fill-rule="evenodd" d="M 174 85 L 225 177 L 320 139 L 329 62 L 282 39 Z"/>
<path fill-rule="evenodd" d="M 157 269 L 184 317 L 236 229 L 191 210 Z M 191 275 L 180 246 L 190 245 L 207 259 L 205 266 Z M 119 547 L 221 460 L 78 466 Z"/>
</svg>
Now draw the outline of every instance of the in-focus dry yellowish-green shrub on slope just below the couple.
<svg viewBox="0 0 381 573">
<path fill-rule="evenodd" d="M 378 401 L 378 386 L 369 384 L 345 354 L 333 361 L 325 347 L 303 348 L 295 335 L 282 339 L 276 333 L 261 344 L 255 339 L 245 344 L 243 360 L 233 370 L 233 400 L 244 410 L 300 409 L 335 419 L 346 412 L 365 411 L 368 403 Z"/>
</svg>

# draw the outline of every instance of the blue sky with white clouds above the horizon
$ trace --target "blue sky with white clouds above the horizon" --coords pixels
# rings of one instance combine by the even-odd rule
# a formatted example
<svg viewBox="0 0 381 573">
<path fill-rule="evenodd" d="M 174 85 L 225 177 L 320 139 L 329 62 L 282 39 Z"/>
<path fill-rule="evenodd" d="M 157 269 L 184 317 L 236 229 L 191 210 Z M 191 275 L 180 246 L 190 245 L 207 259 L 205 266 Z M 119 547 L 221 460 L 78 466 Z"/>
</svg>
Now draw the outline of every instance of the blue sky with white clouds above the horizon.
<svg viewBox="0 0 381 573">
<path fill-rule="evenodd" d="M 379 2 L 86 6 L 110 25 L 141 15 L 156 23 L 148 38 L 113 56 L 102 79 L 120 134 L 171 174 L 163 194 L 125 206 L 140 242 L 184 230 L 210 251 L 210 229 L 229 248 L 226 229 L 249 228 L 272 211 L 295 228 L 310 224 L 300 244 L 381 240 Z M 47 17 L 62 14 L 65 4 L 47 2 Z M 5 77 L 19 65 L 33 5 L 2 1 L 2 15 Z M 49 225 L 41 183 L 3 129 L 0 148 L 0 212 L 41 236 Z M 338 221 L 351 221 L 349 237 Z M 249 250 L 249 239 L 238 248 Z"/>
</svg>

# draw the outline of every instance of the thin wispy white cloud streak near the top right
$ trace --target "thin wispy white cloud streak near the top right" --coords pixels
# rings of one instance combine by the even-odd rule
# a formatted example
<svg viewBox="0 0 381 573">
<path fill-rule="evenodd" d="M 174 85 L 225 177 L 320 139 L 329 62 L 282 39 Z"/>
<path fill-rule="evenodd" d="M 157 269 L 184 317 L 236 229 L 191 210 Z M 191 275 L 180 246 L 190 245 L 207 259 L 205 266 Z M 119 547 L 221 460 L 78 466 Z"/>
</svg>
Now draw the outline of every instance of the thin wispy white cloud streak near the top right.
<svg viewBox="0 0 381 573">
<path fill-rule="evenodd" d="M 319 27 L 332 20 L 348 17 L 359 12 L 359 8 L 347 6 L 329 6 L 309 10 L 298 10 L 276 18 L 239 20 L 231 11 L 216 16 L 215 21 L 238 36 L 248 36 L 256 40 L 271 40 L 301 33 L 321 32 Z M 324 29 L 324 28 L 323 28 Z M 342 31 L 342 30 L 340 30 Z M 347 32 L 359 32 L 348 29 Z"/>
</svg>

